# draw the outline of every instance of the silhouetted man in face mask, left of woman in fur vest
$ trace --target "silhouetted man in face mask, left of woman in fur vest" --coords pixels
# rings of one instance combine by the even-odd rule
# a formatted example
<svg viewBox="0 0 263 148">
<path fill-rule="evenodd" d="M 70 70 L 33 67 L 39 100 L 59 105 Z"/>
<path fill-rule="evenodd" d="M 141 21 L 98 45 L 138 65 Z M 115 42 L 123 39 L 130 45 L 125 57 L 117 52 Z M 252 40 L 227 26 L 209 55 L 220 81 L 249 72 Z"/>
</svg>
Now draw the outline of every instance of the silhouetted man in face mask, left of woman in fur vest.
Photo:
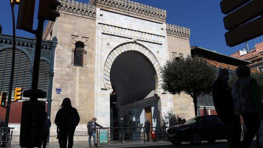
<svg viewBox="0 0 263 148">
<path fill-rule="evenodd" d="M 234 113 L 234 103 L 231 89 L 228 86 L 229 72 L 220 69 L 218 78 L 213 84 L 213 101 L 219 118 L 223 121 L 228 147 L 237 148 L 240 145 L 241 129 L 240 116 Z"/>
</svg>

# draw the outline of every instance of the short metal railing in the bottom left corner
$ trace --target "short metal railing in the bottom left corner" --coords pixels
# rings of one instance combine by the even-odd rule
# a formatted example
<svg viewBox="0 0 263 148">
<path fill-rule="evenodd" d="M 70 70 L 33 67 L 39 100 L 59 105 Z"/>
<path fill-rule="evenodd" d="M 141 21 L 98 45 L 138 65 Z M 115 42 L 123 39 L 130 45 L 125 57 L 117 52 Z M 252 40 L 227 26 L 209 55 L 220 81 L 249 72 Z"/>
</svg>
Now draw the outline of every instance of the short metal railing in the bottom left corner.
<svg viewBox="0 0 263 148">
<path fill-rule="evenodd" d="M 12 134 L 14 127 L 0 127 L 0 145 L 1 147 L 11 147 Z"/>
</svg>

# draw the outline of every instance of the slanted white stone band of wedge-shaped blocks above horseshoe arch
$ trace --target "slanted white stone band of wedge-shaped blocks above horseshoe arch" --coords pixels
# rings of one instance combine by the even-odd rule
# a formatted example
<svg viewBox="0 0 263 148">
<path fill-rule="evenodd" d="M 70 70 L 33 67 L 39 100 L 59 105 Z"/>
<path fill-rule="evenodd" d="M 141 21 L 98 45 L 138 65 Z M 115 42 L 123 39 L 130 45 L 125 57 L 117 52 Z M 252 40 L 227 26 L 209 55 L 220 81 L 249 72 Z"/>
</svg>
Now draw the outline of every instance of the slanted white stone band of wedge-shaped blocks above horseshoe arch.
<svg viewBox="0 0 263 148">
<path fill-rule="evenodd" d="M 146 40 L 149 42 L 158 42 L 160 44 L 163 42 L 163 39 L 165 38 L 164 36 L 160 36 L 156 34 L 141 32 L 137 30 L 131 30 L 127 28 L 121 28 L 121 27 L 116 27 L 116 26 L 111 26 L 111 25 L 106 25 L 106 24 L 99 24 L 98 26 L 105 33 L 111 33 L 111 34 L 125 36 L 129 38 L 134 38 L 134 39 Z"/>
</svg>

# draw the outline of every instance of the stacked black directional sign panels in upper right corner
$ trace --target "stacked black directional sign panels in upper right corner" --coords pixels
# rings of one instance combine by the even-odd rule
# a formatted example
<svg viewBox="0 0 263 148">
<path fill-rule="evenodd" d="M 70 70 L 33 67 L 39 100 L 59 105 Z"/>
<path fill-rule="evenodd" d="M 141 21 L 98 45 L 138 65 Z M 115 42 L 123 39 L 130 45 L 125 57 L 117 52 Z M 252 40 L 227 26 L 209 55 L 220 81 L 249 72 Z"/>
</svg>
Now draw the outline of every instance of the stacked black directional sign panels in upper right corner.
<svg viewBox="0 0 263 148">
<path fill-rule="evenodd" d="M 223 0 L 220 6 L 222 13 L 228 14 L 224 17 L 225 29 L 229 30 L 225 33 L 228 46 L 263 35 L 263 0 Z"/>
</svg>

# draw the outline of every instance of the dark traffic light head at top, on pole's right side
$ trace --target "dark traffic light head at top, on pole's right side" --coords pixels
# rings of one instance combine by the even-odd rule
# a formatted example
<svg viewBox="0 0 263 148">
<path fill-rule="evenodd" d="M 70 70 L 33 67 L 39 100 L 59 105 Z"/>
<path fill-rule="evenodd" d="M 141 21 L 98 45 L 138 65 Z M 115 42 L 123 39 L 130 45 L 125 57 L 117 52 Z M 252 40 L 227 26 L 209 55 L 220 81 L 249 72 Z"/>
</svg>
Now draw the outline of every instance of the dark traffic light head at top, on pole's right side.
<svg viewBox="0 0 263 148">
<path fill-rule="evenodd" d="M 56 0 L 39 0 L 39 8 L 37 19 L 44 18 L 45 20 L 55 21 L 56 17 L 60 14 L 56 12 L 57 6 L 60 6 L 60 2 Z"/>
</svg>

